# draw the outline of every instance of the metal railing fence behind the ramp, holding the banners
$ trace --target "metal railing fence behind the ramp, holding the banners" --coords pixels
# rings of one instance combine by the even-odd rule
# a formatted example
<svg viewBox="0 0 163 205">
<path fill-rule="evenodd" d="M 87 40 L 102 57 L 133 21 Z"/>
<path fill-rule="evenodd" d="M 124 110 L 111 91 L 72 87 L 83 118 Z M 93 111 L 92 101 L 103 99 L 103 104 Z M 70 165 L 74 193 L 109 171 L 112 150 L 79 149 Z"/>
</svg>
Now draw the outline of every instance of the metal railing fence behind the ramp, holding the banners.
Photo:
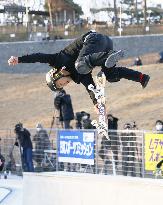
<svg viewBox="0 0 163 205">
<path fill-rule="evenodd" d="M 46 130 L 47 134 L 50 134 L 49 143 L 36 135 L 36 129 L 29 131 L 33 143 L 35 172 L 71 171 L 154 178 L 152 169 L 163 157 L 163 134 L 151 131 L 109 130 L 107 139 L 98 136 L 95 130 L 80 130 L 80 133 L 95 133 L 93 164 L 60 160 L 58 141 L 61 130 Z M 66 130 L 66 133 L 68 132 L 79 130 Z M 0 138 L 0 153 L 5 157 L 3 171 L 22 174 L 20 146 L 15 146 L 14 131 L 0 130 Z"/>
</svg>

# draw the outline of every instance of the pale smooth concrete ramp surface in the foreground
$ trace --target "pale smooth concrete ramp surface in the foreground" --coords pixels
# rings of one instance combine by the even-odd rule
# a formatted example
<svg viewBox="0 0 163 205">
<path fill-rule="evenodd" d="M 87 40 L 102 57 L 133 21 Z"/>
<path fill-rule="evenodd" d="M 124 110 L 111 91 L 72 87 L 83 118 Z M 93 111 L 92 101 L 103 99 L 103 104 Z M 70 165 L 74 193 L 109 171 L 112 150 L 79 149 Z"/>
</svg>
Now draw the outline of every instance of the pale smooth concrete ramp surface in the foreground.
<svg viewBox="0 0 163 205">
<path fill-rule="evenodd" d="M 163 181 L 78 173 L 25 173 L 24 205 L 161 204 Z"/>
</svg>

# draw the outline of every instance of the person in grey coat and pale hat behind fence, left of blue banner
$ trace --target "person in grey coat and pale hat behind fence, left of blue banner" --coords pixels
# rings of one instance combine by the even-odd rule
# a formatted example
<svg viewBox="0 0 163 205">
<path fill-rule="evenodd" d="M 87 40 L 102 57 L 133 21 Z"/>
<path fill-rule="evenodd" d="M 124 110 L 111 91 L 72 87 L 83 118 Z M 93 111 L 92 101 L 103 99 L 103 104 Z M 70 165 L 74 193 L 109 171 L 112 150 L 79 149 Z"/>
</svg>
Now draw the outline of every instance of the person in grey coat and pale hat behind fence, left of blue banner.
<svg viewBox="0 0 163 205">
<path fill-rule="evenodd" d="M 49 136 L 40 123 L 36 125 L 33 141 L 35 142 L 33 159 L 37 162 L 37 167 L 40 168 L 44 159 L 44 150 L 50 149 Z"/>
</svg>

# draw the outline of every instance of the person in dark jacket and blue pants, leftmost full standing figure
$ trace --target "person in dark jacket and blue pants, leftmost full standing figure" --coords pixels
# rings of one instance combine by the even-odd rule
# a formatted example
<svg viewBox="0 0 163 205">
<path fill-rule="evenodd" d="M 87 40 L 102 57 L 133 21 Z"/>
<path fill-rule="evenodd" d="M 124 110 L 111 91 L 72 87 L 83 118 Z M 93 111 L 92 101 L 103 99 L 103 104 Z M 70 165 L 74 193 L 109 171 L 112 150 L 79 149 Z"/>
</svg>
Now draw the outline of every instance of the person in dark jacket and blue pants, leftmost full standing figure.
<svg viewBox="0 0 163 205">
<path fill-rule="evenodd" d="M 23 151 L 23 153 L 21 152 L 23 170 L 27 172 L 33 172 L 34 167 L 32 161 L 32 142 L 30 138 L 31 134 L 26 128 L 23 128 L 22 123 L 15 125 L 15 133 L 17 135 L 15 145 L 20 145 L 20 151 L 21 148 Z"/>
</svg>

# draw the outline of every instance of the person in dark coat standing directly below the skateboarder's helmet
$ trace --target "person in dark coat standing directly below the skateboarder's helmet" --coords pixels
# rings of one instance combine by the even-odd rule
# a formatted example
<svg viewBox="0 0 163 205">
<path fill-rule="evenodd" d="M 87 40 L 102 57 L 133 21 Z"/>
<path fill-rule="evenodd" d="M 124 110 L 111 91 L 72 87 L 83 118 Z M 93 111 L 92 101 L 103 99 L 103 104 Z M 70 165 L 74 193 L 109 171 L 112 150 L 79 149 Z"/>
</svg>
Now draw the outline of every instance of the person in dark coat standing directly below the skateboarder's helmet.
<svg viewBox="0 0 163 205">
<path fill-rule="evenodd" d="M 64 129 L 70 129 L 70 122 L 74 119 L 71 96 L 61 90 L 54 98 L 54 106 L 59 111 L 59 121 Z"/>
</svg>

